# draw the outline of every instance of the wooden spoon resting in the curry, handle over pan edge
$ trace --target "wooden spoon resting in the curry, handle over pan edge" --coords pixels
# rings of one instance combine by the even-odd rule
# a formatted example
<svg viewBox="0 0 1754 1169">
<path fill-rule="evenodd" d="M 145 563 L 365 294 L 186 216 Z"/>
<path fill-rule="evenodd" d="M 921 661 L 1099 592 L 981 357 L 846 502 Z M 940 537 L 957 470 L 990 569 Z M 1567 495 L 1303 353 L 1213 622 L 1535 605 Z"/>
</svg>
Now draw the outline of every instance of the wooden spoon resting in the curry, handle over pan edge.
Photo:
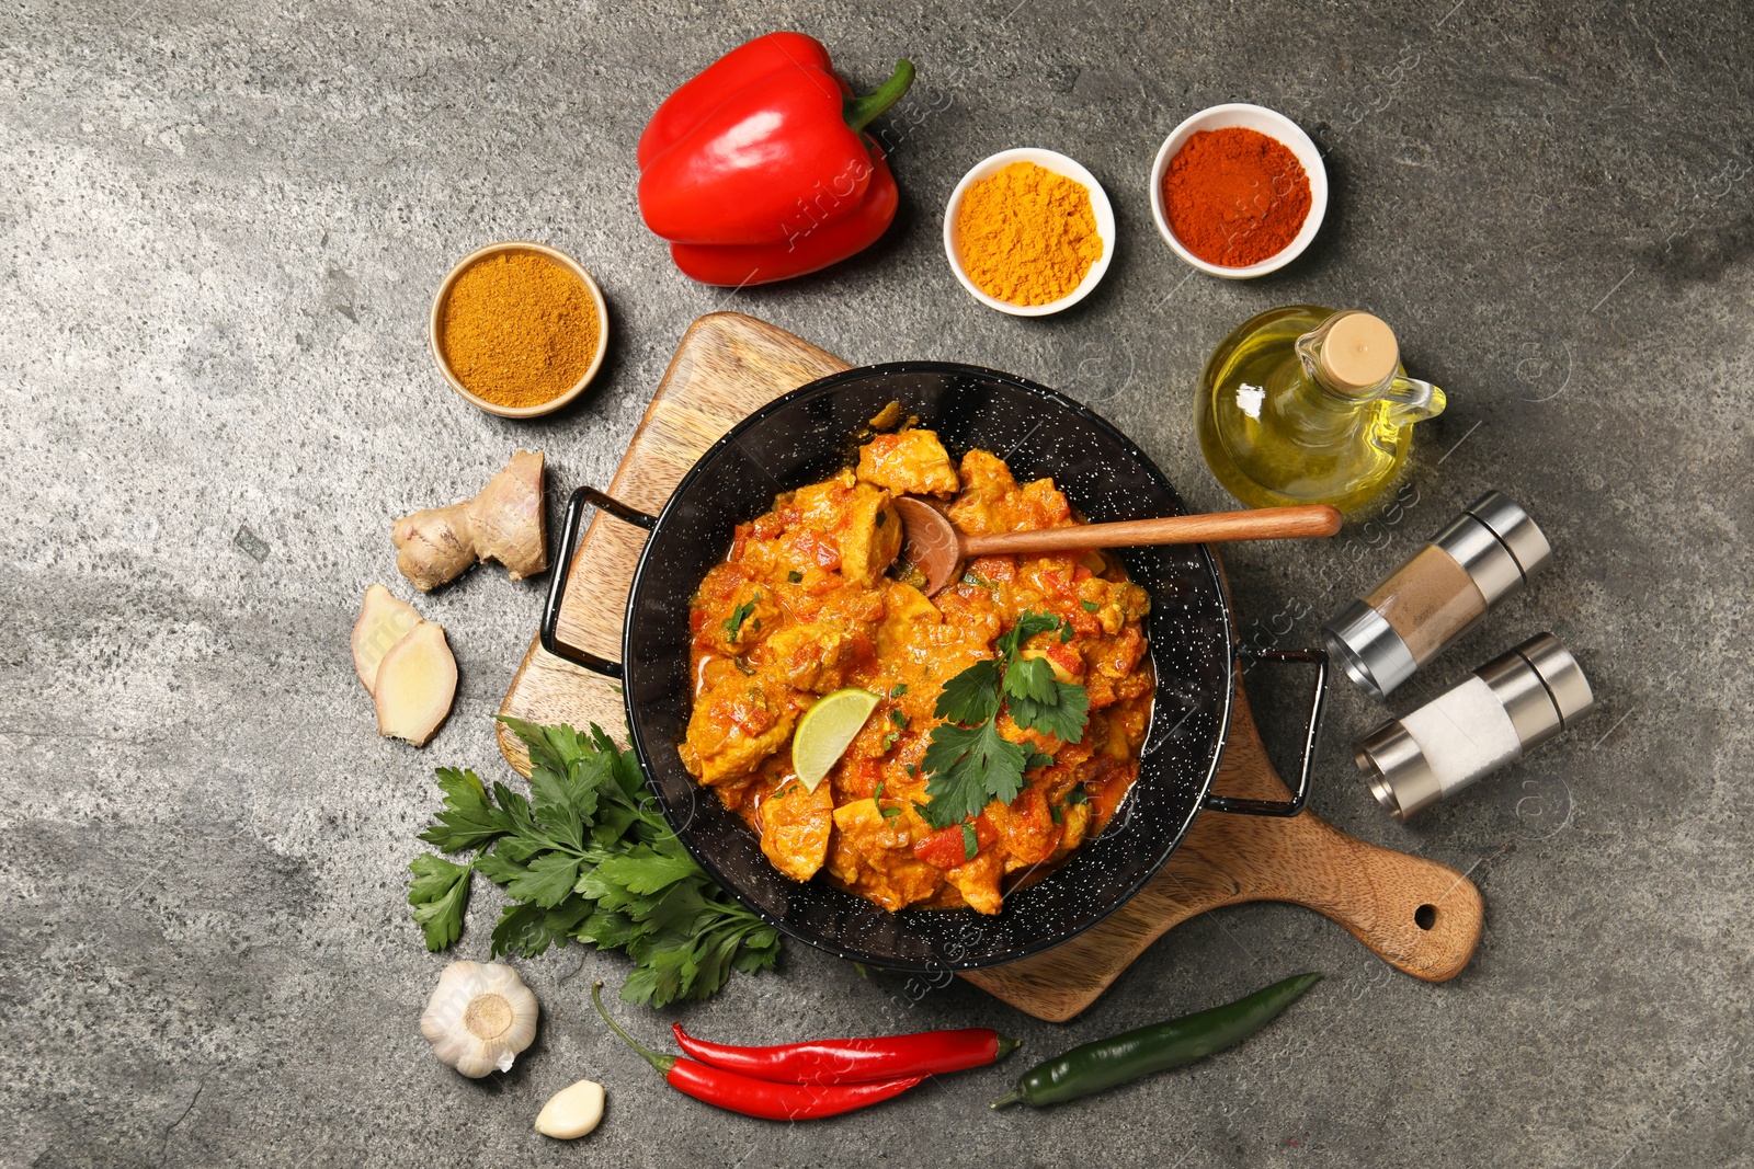
<svg viewBox="0 0 1754 1169">
<path fill-rule="evenodd" d="M 1326 503 L 1251 512 L 1216 512 L 1212 515 L 1170 515 L 1166 519 L 1130 519 L 1119 524 L 1075 524 L 1007 531 L 993 536 L 965 536 L 944 512 L 914 496 L 896 496 L 902 515 L 902 556 L 898 563 L 917 568 L 926 578 L 926 596 L 935 596 L 956 580 L 970 556 L 1009 556 L 1016 552 L 1080 552 L 1084 549 L 1131 549 L 1154 543 L 1217 543 L 1233 540 L 1287 540 L 1331 536 L 1340 531 L 1340 512 Z"/>
</svg>

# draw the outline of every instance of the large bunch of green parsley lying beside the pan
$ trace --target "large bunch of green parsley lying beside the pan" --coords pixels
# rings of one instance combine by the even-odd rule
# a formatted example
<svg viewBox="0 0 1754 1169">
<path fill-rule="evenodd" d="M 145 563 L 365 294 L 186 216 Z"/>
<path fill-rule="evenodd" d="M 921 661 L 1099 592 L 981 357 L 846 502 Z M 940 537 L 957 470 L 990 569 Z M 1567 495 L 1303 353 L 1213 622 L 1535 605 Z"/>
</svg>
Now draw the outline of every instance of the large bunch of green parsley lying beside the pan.
<svg viewBox="0 0 1754 1169">
<path fill-rule="evenodd" d="M 503 719 L 530 748 L 530 797 L 489 796 L 474 771 L 438 769 L 444 811 L 421 832 L 435 854 L 409 866 L 409 904 L 428 950 L 463 932 L 470 875 L 503 885 L 512 904 L 493 929 L 493 957 L 535 957 L 568 938 L 633 959 L 621 997 L 665 1006 L 705 999 L 733 969 L 770 969 L 779 932 L 702 871 L 651 804 L 633 752 L 595 724 L 540 727 Z"/>
</svg>

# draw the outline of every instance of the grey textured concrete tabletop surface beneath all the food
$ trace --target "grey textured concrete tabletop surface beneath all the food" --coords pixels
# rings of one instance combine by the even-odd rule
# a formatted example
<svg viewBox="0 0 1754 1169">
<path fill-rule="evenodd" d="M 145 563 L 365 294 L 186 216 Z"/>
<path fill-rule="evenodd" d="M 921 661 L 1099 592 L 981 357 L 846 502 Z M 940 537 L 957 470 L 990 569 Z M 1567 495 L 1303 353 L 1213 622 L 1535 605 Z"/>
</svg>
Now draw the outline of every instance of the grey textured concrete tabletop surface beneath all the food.
<svg viewBox="0 0 1754 1169">
<path fill-rule="evenodd" d="M 777 26 L 863 84 L 898 54 L 903 210 L 868 254 L 731 294 L 642 230 L 633 142 L 674 84 Z M 1754 1144 L 1747 922 L 1754 636 L 1754 47 L 1743 4 L 1254 0 L 1189 5 L 188 4 L 0 12 L 0 1162 L 7 1165 L 1742 1165 Z M 1291 114 L 1335 198 L 1277 279 L 1189 273 L 1156 237 L 1165 133 L 1216 102 Z M 963 170 L 1009 145 L 1084 161 L 1121 244 L 1049 321 L 973 303 L 938 244 Z M 577 254 L 614 349 L 581 407 L 484 417 L 431 368 L 428 298 L 507 237 Z M 347 661 L 388 526 L 517 445 L 556 489 L 607 480 L 684 326 L 775 321 L 852 361 L 1009 368 L 1093 403 L 1196 507 L 1210 345 L 1279 303 L 1368 307 L 1451 393 L 1405 507 L 1321 549 L 1230 554 L 1282 643 L 1466 499 L 1501 487 L 1556 568 L 1421 678 L 1537 629 L 1573 645 L 1587 726 L 1414 827 L 1347 741 L 1314 804 L 1466 869 L 1489 922 L 1449 985 L 1303 910 L 1196 920 L 1066 1027 L 791 946 L 712 1003 L 623 1011 L 728 1038 L 989 1024 L 1042 1057 L 1298 969 L 1324 981 L 1207 1064 L 1049 1113 L 1010 1069 L 781 1127 L 677 1097 L 593 1020 L 614 955 L 521 962 L 538 1045 L 463 1081 L 416 1032 L 444 957 L 403 904 L 431 768 L 507 775 L 489 733 L 542 584 L 477 571 L 421 608 L 463 684 L 426 750 L 379 740 Z M 405 589 L 403 589 L 405 591 Z M 1407 710 L 1408 692 L 1393 703 Z M 486 957 L 481 889 L 458 946 Z M 531 1132 L 591 1076 L 582 1146 Z"/>
</svg>

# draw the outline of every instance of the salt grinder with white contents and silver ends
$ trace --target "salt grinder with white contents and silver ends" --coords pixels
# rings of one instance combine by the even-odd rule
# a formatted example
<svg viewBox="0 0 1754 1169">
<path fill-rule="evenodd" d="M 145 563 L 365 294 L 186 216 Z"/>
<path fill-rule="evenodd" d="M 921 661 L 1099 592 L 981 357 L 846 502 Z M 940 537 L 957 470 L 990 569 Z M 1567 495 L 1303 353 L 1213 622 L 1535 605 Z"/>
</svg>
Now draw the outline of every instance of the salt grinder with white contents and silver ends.
<svg viewBox="0 0 1754 1169">
<path fill-rule="evenodd" d="M 1589 713 L 1577 659 L 1551 633 L 1494 657 L 1452 691 L 1352 745 L 1358 769 L 1389 815 L 1407 820 Z"/>
</svg>

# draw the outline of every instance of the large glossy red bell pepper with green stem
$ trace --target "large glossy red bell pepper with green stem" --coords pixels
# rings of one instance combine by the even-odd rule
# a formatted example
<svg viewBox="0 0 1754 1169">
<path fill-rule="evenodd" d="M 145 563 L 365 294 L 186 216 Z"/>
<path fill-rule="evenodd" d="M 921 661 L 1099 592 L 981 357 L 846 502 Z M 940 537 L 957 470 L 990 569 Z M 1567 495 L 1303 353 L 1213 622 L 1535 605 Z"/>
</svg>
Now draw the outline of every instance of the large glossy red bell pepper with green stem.
<svg viewBox="0 0 1754 1169">
<path fill-rule="evenodd" d="M 733 49 L 677 89 L 640 135 L 640 216 L 682 272 L 765 284 L 863 251 L 895 219 L 895 177 L 863 128 L 907 93 L 898 61 L 854 98 L 803 33 Z"/>
</svg>

